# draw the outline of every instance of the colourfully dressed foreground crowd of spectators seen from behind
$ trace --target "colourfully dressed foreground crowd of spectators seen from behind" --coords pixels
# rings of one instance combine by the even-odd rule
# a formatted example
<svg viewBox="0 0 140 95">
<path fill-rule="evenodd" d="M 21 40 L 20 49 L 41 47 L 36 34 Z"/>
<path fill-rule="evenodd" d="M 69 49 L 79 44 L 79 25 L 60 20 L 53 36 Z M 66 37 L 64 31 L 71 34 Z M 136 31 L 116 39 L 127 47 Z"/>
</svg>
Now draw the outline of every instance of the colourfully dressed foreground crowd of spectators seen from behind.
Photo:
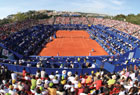
<svg viewBox="0 0 140 95">
<path fill-rule="evenodd" d="M 78 74 L 63 70 L 47 74 L 45 69 L 32 75 L 11 72 L 0 66 L 1 95 L 139 95 L 140 67 L 127 67 L 120 72 L 104 70 Z M 7 74 L 7 76 L 5 76 Z"/>
</svg>

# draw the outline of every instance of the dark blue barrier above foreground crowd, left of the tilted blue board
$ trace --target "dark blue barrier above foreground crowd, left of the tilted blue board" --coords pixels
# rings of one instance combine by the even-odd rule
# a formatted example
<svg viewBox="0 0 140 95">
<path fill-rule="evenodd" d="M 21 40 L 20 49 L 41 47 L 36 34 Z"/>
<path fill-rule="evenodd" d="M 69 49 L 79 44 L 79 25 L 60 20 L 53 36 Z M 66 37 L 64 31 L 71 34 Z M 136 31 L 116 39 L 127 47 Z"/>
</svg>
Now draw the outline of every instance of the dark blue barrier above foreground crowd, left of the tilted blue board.
<svg viewBox="0 0 140 95">
<path fill-rule="evenodd" d="M 14 65 L 14 64 L 7 64 L 7 63 L 0 63 L 1 65 L 4 65 L 8 68 L 8 70 L 11 70 L 11 71 L 15 71 L 15 72 L 22 72 L 23 68 L 26 69 L 26 71 L 30 74 L 36 74 L 36 71 L 37 70 L 42 70 L 42 68 L 37 68 L 37 67 L 27 67 L 27 66 L 20 66 L 20 65 Z M 85 73 L 88 73 L 88 74 L 91 74 L 91 71 L 94 71 L 96 72 L 97 70 L 99 70 L 100 68 L 94 68 L 94 69 L 58 69 L 58 68 L 44 68 L 45 71 L 47 72 L 47 74 L 51 74 L 51 72 L 55 72 L 55 71 L 58 71 L 59 73 L 61 73 L 63 70 L 66 70 L 67 72 L 68 71 L 71 71 L 73 74 L 75 72 L 77 72 L 79 75 L 80 74 L 85 74 Z"/>
</svg>

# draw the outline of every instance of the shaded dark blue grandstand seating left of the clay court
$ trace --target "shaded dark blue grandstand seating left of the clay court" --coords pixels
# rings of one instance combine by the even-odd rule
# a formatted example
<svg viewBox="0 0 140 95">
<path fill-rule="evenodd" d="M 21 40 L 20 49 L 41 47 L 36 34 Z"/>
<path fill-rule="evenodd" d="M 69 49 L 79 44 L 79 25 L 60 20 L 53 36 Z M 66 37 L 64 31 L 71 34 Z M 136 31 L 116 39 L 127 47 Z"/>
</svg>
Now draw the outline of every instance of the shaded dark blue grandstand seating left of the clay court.
<svg viewBox="0 0 140 95">
<path fill-rule="evenodd" d="M 24 56 L 37 55 L 48 41 L 46 38 L 49 38 L 55 32 L 51 27 L 49 25 L 34 26 L 11 35 L 3 40 L 2 43 L 9 49 Z"/>
</svg>

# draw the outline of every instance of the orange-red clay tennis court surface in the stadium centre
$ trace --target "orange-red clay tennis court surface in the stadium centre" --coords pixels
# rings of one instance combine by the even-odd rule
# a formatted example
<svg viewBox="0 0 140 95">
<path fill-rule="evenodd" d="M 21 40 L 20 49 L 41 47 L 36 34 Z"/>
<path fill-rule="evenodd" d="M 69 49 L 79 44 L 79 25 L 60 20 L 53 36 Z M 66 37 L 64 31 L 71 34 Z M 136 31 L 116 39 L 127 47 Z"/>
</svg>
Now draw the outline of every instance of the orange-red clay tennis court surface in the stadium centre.
<svg viewBox="0 0 140 95">
<path fill-rule="evenodd" d="M 57 38 L 46 44 L 39 56 L 101 56 L 108 53 L 82 30 L 59 30 Z M 94 49 L 94 52 L 92 52 Z"/>
</svg>

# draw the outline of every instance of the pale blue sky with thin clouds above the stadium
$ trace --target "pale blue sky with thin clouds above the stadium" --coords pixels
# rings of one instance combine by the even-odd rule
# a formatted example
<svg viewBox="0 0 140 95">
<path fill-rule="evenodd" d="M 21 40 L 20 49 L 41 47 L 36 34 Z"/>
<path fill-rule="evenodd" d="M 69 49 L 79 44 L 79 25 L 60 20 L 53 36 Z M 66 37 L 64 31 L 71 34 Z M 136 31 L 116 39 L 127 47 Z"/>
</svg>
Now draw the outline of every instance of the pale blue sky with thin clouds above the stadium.
<svg viewBox="0 0 140 95">
<path fill-rule="evenodd" d="M 29 10 L 56 10 L 108 15 L 138 14 L 140 0 L 0 0 L 0 19 Z"/>
</svg>

